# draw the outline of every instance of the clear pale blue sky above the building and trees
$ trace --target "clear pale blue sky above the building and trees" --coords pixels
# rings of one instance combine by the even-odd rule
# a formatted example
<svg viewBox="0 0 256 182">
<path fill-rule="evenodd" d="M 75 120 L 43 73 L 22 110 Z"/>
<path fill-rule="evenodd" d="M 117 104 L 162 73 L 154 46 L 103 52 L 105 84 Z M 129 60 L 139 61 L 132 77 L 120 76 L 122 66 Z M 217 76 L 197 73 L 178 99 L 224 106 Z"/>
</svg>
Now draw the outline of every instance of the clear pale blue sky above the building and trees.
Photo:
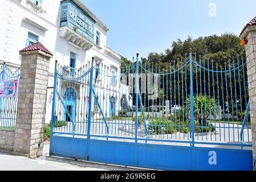
<svg viewBox="0 0 256 182">
<path fill-rule="evenodd" d="M 107 45 L 131 59 L 164 52 L 188 35 L 239 35 L 256 16 L 256 0 L 82 0 L 109 28 Z M 216 16 L 209 16 L 215 3 Z M 212 12 L 212 11 L 210 11 Z M 214 15 L 214 14 L 213 14 Z"/>
</svg>

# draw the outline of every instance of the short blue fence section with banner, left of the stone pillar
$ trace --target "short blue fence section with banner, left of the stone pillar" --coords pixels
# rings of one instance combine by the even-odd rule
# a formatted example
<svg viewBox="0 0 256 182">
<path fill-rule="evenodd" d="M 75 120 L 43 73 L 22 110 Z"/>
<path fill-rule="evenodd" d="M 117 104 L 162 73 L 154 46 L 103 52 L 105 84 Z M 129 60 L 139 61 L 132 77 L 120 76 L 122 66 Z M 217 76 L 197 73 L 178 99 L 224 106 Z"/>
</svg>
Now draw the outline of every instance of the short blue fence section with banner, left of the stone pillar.
<svg viewBox="0 0 256 182">
<path fill-rule="evenodd" d="M 18 92 L 15 80 L 19 75 L 19 69 L 11 69 L 5 63 L 0 67 L 0 129 L 15 129 L 18 93 L 14 92 Z"/>
</svg>

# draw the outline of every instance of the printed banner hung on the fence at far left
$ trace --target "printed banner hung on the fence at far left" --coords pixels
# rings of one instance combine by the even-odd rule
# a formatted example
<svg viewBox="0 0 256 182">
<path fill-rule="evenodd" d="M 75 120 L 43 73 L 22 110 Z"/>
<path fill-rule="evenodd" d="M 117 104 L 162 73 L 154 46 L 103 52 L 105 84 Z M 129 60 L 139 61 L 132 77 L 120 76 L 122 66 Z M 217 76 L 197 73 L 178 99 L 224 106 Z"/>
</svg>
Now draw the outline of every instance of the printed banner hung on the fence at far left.
<svg viewBox="0 0 256 182">
<path fill-rule="evenodd" d="M 0 81 L 0 98 L 18 97 L 19 80 Z"/>
</svg>

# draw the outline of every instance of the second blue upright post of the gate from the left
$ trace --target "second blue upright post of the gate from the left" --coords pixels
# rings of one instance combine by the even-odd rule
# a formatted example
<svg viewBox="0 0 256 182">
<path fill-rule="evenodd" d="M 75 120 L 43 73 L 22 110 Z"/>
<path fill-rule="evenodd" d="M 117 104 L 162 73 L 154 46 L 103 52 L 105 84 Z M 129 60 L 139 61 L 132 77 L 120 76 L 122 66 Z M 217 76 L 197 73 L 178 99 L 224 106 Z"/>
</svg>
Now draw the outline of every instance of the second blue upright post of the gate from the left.
<svg viewBox="0 0 256 182">
<path fill-rule="evenodd" d="M 90 85 L 89 85 L 89 104 L 88 104 L 88 126 L 87 126 L 87 160 L 89 160 L 89 148 L 90 148 L 90 132 L 91 132 L 91 119 L 92 119 L 92 82 L 94 80 L 94 57 L 92 57 L 92 65 L 90 72 Z"/>
</svg>

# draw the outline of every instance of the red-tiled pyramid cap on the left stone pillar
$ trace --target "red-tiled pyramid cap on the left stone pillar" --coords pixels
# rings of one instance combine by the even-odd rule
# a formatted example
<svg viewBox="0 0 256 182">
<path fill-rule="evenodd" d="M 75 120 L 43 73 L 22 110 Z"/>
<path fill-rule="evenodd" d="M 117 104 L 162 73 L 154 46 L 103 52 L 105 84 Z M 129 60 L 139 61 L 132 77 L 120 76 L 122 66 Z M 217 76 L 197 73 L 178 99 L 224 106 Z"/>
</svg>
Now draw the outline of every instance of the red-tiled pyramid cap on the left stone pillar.
<svg viewBox="0 0 256 182">
<path fill-rule="evenodd" d="M 41 44 L 40 42 L 36 42 L 34 44 L 31 44 L 29 47 L 26 47 L 24 49 L 22 49 L 21 51 L 19 51 L 20 55 L 26 55 L 27 53 L 44 53 L 44 55 L 46 54 L 46 56 L 48 57 L 52 57 L 52 53 L 43 46 L 43 44 Z"/>
</svg>

